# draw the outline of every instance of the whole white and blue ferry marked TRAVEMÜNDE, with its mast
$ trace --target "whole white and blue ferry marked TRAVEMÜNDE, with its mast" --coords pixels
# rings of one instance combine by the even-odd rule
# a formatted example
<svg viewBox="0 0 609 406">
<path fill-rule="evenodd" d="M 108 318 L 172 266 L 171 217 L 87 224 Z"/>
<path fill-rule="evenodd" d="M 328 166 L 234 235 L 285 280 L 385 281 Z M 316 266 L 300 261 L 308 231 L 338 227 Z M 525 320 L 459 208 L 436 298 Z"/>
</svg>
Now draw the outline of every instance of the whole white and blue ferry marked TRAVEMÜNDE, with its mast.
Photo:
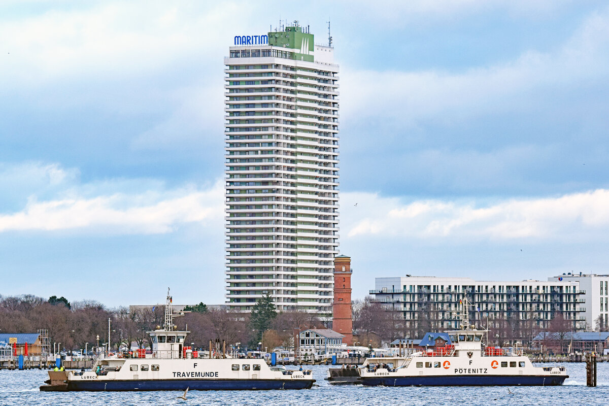
<svg viewBox="0 0 609 406">
<path fill-rule="evenodd" d="M 152 354 L 133 357 L 105 354 L 91 371 L 49 371 L 41 391 L 158 391 L 158 390 L 268 390 L 309 389 L 311 371 L 290 371 L 268 366 L 262 359 L 198 358 L 184 346 L 188 331 L 173 324 L 171 296 L 167 292 L 162 329 L 149 331 Z"/>
</svg>

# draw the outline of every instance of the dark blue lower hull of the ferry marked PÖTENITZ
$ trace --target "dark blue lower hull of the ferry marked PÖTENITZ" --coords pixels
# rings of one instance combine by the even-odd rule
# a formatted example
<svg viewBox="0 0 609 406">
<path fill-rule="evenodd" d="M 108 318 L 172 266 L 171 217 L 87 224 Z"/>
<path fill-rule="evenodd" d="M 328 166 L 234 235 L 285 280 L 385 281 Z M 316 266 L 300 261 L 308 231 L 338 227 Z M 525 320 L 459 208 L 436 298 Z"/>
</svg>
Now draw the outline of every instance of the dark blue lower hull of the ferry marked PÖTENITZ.
<svg viewBox="0 0 609 406">
<path fill-rule="evenodd" d="M 553 387 L 562 385 L 568 375 L 552 376 L 406 376 L 406 377 L 362 377 L 359 383 L 375 387 L 494 387 L 494 386 L 529 386 Z"/>
</svg>

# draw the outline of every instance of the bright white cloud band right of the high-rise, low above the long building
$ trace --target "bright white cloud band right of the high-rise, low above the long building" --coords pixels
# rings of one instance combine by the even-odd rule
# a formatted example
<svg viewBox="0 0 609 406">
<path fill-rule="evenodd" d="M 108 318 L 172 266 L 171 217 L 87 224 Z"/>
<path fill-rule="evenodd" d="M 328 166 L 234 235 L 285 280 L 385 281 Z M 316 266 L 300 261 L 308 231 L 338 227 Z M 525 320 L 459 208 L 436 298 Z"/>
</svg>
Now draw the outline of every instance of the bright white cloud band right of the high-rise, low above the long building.
<svg viewBox="0 0 609 406">
<path fill-rule="evenodd" d="M 345 197 L 346 196 L 346 197 Z M 609 231 L 609 190 L 560 197 L 480 202 L 420 200 L 401 203 L 377 194 L 345 194 L 348 238 L 452 240 L 596 239 Z M 363 211 L 363 213 L 362 213 Z M 346 220 L 346 221 L 345 221 Z"/>
</svg>

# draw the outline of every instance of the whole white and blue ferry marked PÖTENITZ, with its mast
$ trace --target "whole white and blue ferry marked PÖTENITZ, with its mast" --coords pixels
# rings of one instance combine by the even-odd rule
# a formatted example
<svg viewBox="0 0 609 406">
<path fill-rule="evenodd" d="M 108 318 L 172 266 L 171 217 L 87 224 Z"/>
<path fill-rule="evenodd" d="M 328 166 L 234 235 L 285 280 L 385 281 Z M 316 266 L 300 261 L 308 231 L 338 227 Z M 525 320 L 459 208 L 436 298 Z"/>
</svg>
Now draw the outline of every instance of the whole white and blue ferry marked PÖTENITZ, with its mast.
<svg viewBox="0 0 609 406">
<path fill-rule="evenodd" d="M 330 369 L 328 380 L 392 387 L 554 386 L 562 385 L 569 377 L 563 366 L 534 366 L 521 349 L 485 346 L 488 331 L 470 325 L 468 306 L 471 305 L 467 301 L 462 301 L 460 329 L 447 331 L 451 343 L 445 347 L 409 356 L 368 358 L 355 370 Z"/>
</svg>

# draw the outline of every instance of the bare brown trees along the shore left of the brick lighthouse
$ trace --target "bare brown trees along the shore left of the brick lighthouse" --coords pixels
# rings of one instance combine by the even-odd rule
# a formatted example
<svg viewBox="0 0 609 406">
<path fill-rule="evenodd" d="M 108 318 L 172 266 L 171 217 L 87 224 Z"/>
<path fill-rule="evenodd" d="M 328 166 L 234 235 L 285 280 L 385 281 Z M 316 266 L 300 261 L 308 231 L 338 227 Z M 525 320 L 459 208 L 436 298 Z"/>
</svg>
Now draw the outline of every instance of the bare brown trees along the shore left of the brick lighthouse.
<svg viewBox="0 0 609 406">
<path fill-rule="evenodd" d="M 163 325 L 164 306 L 108 308 L 96 301 L 70 303 L 63 296 L 49 299 L 34 295 L 0 296 L 1 332 L 37 332 L 48 329 L 51 351 L 53 343 L 62 349 L 84 349 L 103 346 L 108 340 L 110 319 L 110 348 L 150 348 L 147 331 Z M 204 303 L 185 308 L 183 315 L 174 318 L 180 330 L 188 330 L 186 345 L 208 348 L 209 340 L 226 340 L 227 348 L 256 349 L 290 347 L 294 345 L 295 327 L 301 329 L 323 327 L 320 320 L 306 312 L 278 312 L 267 295 L 253 306 L 252 313 L 230 312 L 209 308 Z"/>
</svg>

